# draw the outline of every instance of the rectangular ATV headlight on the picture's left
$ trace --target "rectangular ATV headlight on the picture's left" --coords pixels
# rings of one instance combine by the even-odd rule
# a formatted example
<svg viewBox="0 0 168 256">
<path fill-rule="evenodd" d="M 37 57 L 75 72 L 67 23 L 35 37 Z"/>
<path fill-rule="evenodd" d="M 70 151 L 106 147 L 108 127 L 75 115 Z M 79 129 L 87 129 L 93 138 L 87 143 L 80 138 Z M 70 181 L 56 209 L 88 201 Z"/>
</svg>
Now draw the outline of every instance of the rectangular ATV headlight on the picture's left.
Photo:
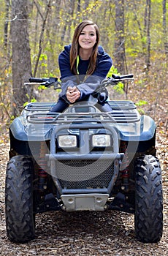
<svg viewBox="0 0 168 256">
<path fill-rule="evenodd" d="M 60 135 L 58 137 L 58 146 L 61 148 L 74 148 L 77 146 L 77 137 L 75 135 Z"/>
</svg>

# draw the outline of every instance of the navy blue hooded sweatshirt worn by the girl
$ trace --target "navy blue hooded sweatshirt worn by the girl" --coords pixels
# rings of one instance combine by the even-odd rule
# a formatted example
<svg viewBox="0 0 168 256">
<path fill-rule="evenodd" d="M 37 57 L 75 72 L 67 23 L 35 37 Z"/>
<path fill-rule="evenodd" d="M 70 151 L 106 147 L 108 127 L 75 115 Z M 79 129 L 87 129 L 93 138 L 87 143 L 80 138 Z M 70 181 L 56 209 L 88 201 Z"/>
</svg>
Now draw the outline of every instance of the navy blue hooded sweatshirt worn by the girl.
<svg viewBox="0 0 168 256">
<path fill-rule="evenodd" d="M 61 72 L 61 93 L 59 97 L 64 99 L 66 102 L 69 103 L 68 99 L 66 99 L 66 90 L 68 86 L 77 86 L 77 89 L 80 90 L 80 99 L 77 100 L 81 101 L 86 99 L 90 94 L 96 91 L 99 83 L 106 78 L 107 73 L 112 66 L 112 59 L 110 56 L 104 52 L 104 49 L 101 45 L 98 48 L 98 54 L 96 59 L 96 69 L 94 70 L 92 75 L 89 75 L 86 78 L 86 73 L 88 70 L 89 60 L 82 60 L 79 59 L 79 64 L 77 70 L 79 75 L 74 75 L 70 69 L 70 49 L 71 44 L 66 45 L 64 50 L 58 56 L 58 64 Z M 105 94 L 104 94 L 105 92 Z M 107 90 L 105 89 L 102 94 L 99 94 L 99 99 L 101 102 L 107 100 Z"/>
</svg>

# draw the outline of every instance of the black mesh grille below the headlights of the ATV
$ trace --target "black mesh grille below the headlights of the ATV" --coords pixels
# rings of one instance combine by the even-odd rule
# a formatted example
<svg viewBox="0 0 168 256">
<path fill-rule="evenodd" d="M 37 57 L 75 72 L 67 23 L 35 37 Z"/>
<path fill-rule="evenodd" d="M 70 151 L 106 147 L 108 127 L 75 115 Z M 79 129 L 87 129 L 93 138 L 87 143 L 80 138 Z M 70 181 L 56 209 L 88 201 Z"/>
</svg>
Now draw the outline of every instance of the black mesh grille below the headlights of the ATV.
<svg viewBox="0 0 168 256">
<path fill-rule="evenodd" d="M 56 165 L 56 176 L 66 189 L 105 188 L 113 174 L 110 160 L 66 160 Z"/>
</svg>

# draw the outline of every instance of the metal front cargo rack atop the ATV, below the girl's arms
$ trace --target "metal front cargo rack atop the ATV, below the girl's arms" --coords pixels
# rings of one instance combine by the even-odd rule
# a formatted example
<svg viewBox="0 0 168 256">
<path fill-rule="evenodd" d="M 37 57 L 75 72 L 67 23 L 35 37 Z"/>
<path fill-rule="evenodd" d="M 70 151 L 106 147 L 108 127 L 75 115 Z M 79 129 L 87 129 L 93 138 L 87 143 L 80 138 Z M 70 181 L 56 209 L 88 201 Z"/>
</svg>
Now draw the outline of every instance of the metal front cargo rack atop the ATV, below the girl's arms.
<svg viewBox="0 0 168 256">
<path fill-rule="evenodd" d="M 59 123 L 79 123 L 79 122 L 110 122 L 110 123 L 133 123 L 140 121 L 140 114 L 136 106 L 131 101 L 111 101 L 109 102 L 111 112 L 96 112 L 93 111 L 94 106 L 90 105 L 76 105 L 73 106 L 74 112 L 64 113 L 49 113 L 54 102 L 33 102 L 26 106 L 25 110 L 28 111 L 26 117 L 27 121 L 31 124 L 59 124 Z M 87 107 L 92 110 L 91 112 L 75 113 L 75 108 L 79 110 Z"/>
</svg>

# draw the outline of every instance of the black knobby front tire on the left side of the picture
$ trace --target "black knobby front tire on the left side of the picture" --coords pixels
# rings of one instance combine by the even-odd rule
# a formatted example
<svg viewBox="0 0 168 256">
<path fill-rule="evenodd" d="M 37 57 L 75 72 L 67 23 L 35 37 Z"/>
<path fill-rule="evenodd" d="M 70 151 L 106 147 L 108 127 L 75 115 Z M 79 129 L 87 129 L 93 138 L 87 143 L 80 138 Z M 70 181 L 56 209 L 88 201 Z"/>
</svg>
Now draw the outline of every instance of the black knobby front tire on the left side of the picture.
<svg viewBox="0 0 168 256">
<path fill-rule="evenodd" d="M 30 157 L 9 160 L 5 187 L 7 236 L 11 241 L 26 242 L 34 238 L 33 163 Z"/>
</svg>

